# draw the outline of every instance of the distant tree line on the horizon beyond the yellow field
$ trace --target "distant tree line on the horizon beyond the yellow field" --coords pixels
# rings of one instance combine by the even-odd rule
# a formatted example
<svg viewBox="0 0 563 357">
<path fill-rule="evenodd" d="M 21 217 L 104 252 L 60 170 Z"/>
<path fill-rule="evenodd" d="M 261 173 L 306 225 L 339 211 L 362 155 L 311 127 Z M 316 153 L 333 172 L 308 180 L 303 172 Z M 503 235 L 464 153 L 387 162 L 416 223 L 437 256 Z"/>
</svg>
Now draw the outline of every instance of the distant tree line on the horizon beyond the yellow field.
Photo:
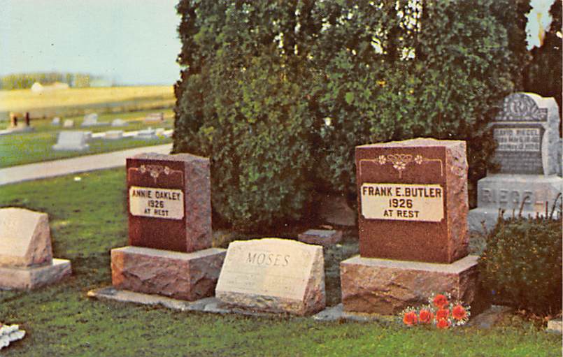
<svg viewBox="0 0 563 357">
<path fill-rule="evenodd" d="M 89 73 L 14 73 L 0 77 L 0 89 L 27 89 L 35 82 L 41 85 L 51 85 L 55 82 L 67 83 L 70 87 L 90 87 L 92 80 L 97 79 Z"/>
</svg>

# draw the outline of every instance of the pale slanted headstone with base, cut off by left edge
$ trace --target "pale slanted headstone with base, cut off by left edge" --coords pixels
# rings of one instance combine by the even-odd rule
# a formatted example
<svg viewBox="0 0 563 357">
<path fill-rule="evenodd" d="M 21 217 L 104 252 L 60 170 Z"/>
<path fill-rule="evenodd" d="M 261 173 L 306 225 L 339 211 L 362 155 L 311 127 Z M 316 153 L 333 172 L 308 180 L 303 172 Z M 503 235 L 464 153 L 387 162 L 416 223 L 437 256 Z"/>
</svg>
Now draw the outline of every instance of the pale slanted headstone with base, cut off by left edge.
<svg viewBox="0 0 563 357">
<path fill-rule="evenodd" d="M 70 261 L 52 258 L 46 213 L 0 209 L 0 289 L 34 289 L 70 274 Z"/>
</svg>

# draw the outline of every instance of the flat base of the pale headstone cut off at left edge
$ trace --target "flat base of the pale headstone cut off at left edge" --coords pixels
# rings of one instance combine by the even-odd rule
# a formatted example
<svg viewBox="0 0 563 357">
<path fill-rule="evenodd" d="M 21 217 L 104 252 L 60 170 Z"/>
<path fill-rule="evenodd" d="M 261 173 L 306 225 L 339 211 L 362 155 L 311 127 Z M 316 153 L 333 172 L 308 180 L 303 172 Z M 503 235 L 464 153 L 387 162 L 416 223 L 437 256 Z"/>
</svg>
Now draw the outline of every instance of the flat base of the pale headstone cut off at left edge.
<svg viewBox="0 0 563 357">
<path fill-rule="evenodd" d="M 54 258 L 48 265 L 0 267 L 0 289 L 31 290 L 71 275 L 71 261 Z"/>
</svg>

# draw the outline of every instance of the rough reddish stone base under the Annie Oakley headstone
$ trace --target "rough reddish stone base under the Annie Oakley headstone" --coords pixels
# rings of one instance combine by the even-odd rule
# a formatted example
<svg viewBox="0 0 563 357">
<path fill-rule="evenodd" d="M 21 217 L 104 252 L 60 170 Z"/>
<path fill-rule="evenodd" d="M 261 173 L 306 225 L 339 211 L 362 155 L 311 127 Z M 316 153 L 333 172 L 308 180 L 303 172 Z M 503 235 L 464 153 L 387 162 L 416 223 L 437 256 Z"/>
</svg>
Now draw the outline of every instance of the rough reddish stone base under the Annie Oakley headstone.
<svg viewBox="0 0 563 357">
<path fill-rule="evenodd" d="M 225 252 L 218 248 L 192 253 L 131 246 L 112 249 L 112 284 L 116 289 L 199 300 L 213 296 Z"/>
</svg>

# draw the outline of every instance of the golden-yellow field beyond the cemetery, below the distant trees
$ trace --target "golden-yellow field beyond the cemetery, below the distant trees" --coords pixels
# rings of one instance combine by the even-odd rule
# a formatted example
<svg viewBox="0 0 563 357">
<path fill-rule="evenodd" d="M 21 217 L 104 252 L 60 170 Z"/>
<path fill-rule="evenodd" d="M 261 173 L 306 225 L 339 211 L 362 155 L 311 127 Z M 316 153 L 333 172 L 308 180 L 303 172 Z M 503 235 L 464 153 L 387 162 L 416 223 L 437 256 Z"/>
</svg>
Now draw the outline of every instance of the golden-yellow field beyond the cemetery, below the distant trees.
<svg viewBox="0 0 563 357">
<path fill-rule="evenodd" d="M 34 93 L 30 89 L 0 91 L 0 119 L 7 112 L 30 112 L 32 117 L 84 115 L 171 108 L 172 86 L 70 88 Z"/>
</svg>

